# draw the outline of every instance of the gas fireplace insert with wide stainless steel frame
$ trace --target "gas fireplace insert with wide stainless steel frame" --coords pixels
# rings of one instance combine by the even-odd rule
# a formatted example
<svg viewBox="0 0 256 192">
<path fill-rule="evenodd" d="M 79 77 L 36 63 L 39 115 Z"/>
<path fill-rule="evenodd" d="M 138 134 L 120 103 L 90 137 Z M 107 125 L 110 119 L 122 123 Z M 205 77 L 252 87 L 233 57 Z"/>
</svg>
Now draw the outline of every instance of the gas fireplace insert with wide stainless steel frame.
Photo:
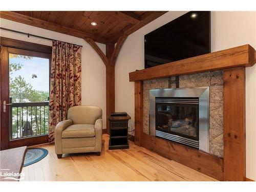
<svg viewBox="0 0 256 192">
<path fill-rule="evenodd" d="M 209 87 L 150 90 L 150 135 L 209 152 Z"/>
</svg>

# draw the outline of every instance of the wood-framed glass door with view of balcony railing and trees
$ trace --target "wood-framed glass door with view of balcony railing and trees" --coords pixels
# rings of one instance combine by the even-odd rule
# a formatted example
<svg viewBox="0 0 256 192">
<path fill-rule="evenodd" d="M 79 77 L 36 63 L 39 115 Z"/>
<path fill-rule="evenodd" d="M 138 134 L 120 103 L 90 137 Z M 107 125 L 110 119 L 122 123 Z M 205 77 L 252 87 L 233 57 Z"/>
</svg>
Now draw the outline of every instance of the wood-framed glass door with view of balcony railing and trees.
<svg viewBox="0 0 256 192">
<path fill-rule="evenodd" d="M 2 149 L 48 142 L 51 54 L 1 47 Z"/>
</svg>

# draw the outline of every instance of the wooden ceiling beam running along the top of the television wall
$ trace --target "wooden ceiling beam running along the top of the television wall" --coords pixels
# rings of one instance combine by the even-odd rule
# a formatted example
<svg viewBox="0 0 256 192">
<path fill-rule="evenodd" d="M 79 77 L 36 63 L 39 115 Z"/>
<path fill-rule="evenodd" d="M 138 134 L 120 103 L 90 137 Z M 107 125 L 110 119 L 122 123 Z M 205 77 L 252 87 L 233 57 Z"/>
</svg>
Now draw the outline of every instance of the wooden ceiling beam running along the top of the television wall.
<svg viewBox="0 0 256 192">
<path fill-rule="evenodd" d="M 153 20 L 155 20 L 156 18 L 160 17 L 161 15 L 163 15 L 166 12 L 167 11 L 149 11 L 149 12 L 144 13 L 143 15 L 141 15 L 140 22 L 135 24 L 135 25 L 133 25 L 131 28 L 125 30 L 123 32 L 123 34 L 125 34 L 126 36 L 129 36 L 133 32 L 135 32 L 138 29 L 142 28 L 143 26 L 149 24 L 150 22 L 152 22 Z M 118 35 L 110 38 L 109 41 L 110 42 L 117 42 L 117 40 L 121 36 L 120 34 L 118 34 Z"/>
</svg>

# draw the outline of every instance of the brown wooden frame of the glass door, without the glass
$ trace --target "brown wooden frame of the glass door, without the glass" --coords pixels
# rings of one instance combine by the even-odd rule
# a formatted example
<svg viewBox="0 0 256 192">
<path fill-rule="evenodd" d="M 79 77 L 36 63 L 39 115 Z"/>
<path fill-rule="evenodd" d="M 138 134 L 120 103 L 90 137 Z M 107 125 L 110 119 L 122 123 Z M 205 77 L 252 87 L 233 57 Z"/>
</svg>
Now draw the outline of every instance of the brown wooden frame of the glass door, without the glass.
<svg viewBox="0 0 256 192">
<path fill-rule="evenodd" d="M 5 37 L 0 37 L 0 45 L 1 45 L 1 69 L 0 69 L 0 78 L 1 78 L 1 126 L 0 126 L 0 141 L 1 141 L 1 150 L 5 150 L 7 148 L 13 148 L 18 146 L 24 146 L 24 143 L 26 145 L 36 145 L 41 143 L 48 142 L 48 135 L 44 136 L 37 136 L 37 137 L 31 137 L 31 138 L 23 138 L 18 140 L 10 141 L 10 129 L 3 129 L 4 126 L 8 124 L 9 127 L 9 108 L 7 108 L 6 113 L 3 112 L 2 106 L 3 106 L 3 100 L 4 98 L 7 98 L 9 95 L 9 52 L 16 54 L 25 54 L 27 55 L 33 55 L 37 57 L 42 58 L 49 58 L 49 69 L 51 68 L 51 53 L 52 53 L 52 47 L 45 46 L 45 45 L 39 45 L 39 44 L 33 44 L 31 42 L 27 41 L 20 41 L 16 39 L 10 39 Z M 50 70 L 49 70 L 49 78 L 50 78 Z M 8 81 L 5 82 L 5 81 Z M 8 86 L 3 87 L 3 84 L 8 84 Z M 9 100 L 8 100 L 9 102 Z M 5 117 L 5 118 L 4 118 Z M 6 118 L 7 117 L 7 118 Z"/>
</svg>

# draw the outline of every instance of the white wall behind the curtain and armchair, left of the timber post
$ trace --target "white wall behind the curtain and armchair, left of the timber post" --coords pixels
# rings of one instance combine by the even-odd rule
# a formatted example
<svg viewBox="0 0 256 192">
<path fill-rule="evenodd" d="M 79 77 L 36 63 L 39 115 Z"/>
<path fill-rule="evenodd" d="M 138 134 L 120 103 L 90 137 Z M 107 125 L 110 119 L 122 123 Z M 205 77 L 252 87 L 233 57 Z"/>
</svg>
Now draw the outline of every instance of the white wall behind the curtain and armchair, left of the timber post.
<svg viewBox="0 0 256 192">
<path fill-rule="evenodd" d="M 56 33 L 53 31 L 12 22 L 7 19 L 0 18 L 0 26 L 17 31 L 40 35 L 60 41 L 70 42 L 72 44 L 81 45 L 82 47 L 82 104 L 98 105 L 103 111 L 103 129 L 106 127 L 106 86 L 105 86 L 105 66 L 101 58 L 94 51 L 94 49 L 83 39 Z M 30 37 L 26 35 L 17 34 L 0 30 L 0 36 L 8 37 L 18 40 L 34 42 L 36 44 L 52 46 L 52 41 L 41 38 Z M 105 45 L 98 44 L 99 48 L 105 53 Z"/>
</svg>

